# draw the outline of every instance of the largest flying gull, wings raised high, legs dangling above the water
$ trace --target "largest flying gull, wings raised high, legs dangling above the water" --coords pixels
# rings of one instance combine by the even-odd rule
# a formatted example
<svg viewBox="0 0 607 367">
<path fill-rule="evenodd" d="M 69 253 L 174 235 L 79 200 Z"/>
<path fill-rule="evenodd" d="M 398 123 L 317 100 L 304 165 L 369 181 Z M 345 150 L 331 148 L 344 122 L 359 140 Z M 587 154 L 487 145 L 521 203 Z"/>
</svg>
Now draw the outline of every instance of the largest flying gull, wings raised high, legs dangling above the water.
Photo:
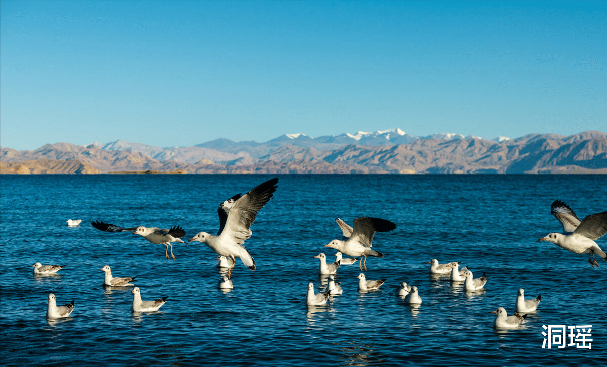
<svg viewBox="0 0 607 367">
<path fill-rule="evenodd" d="M 205 243 L 215 253 L 231 259 L 228 278 L 231 277 L 232 268 L 236 265 L 236 257 L 240 257 L 246 267 L 255 270 L 255 260 L 242 244 L 251 237 L 251 224 L 257 217 L 257 212 L 272 198 L 277 183 L 277 178 L 271 179 L 244 195 L 236 194 L 220 203 L 217 208 L 219 215 L 217 235 L 200 232 L 189 239 L 189 242 Z"/>
</svg>

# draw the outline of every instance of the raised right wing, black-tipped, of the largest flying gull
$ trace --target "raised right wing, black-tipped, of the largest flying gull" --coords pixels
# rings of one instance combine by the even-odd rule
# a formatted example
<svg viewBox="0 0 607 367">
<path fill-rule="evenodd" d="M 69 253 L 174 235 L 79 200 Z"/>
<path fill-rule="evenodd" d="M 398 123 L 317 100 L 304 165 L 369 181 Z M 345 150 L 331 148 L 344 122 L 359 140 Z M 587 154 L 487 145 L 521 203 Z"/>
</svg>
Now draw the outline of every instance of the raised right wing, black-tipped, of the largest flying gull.
<svg viewBox="0 0 607 367">
<path fill-rule="evenodd" d="M 228 211 L 228 219 L 219 237 L 232 237 L 239 245 L 251 237 L 251 224 L 257 212 L 272 198 L 278 179 L 271 179 L 241 196 Z"/>
</svg>

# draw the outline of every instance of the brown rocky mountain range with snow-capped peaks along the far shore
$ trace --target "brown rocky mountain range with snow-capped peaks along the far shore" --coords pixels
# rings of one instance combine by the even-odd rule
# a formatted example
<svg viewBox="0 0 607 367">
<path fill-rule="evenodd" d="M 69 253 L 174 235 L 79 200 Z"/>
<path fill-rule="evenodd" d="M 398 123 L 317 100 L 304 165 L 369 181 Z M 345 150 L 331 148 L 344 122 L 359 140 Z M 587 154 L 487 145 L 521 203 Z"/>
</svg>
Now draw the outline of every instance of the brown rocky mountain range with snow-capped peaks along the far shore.
<svg viewBox="0 0 607 367">
<path fill-rule="evenodd" d="M 395 128 L 316 138 L 285 134 L 265 143 L 216 139 L 193 147 L 122 140 L 86 147 L 57 143 L 25 151 L 2 147 L 0 168 L 13 174 L 607 174 L 607 133 L 489 140 L 461 134 L 418 137 Z"/>
</svg>

